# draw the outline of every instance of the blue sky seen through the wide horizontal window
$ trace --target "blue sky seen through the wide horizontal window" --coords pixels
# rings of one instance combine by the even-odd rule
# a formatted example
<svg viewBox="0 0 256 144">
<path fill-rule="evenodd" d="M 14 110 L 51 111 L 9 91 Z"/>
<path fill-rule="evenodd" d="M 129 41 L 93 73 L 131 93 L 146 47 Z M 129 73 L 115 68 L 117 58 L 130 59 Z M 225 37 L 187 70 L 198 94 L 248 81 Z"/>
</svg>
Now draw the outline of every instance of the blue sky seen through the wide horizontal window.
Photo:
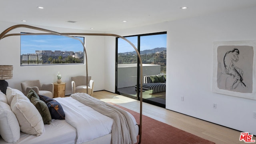
<svg viewBox="0 0 256 144">
<path fill-rule="evenodd" d="M 84 42 L 83 37 L 77 38 Z M 84 50 L 79 40 L 56 35 L 20 36 L 20 47 L 21 54 L 35 54 L 36 50 L 60 50 L 74 52 Z"/>
</svg>

